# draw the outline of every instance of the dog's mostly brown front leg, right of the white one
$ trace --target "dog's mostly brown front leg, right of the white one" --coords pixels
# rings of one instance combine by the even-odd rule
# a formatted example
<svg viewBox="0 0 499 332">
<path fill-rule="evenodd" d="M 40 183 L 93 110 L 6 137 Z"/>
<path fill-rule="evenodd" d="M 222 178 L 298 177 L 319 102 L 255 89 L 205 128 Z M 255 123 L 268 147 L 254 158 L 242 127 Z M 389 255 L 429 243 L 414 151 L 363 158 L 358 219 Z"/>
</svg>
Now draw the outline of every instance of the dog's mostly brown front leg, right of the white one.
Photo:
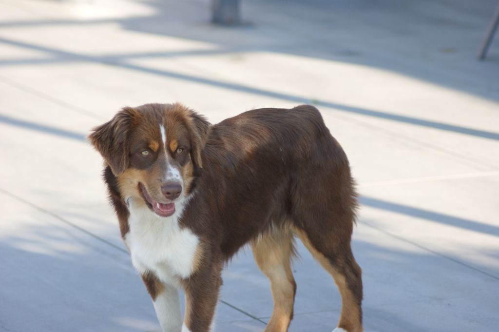
<svg viewBox="0 0 499 332">
<path fill-rule="evenodd" d="M 213 332 L 222 268 L 198 272 L 185 283 L 186 313 L 182 332 Z"/>
</svg>

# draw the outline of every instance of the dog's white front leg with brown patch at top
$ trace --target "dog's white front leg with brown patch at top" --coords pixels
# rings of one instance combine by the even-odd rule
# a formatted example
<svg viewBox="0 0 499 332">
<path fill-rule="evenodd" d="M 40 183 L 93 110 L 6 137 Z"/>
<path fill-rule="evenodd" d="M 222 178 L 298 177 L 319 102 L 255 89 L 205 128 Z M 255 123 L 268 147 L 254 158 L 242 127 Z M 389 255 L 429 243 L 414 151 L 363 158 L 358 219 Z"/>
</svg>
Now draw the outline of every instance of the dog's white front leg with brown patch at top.
<svg viewBox="0 0 499 332">
<path fill-rule="evenodd" d="M 163 332 L 184 331 L 178 289 L 161 282 L 152 272 L 143 274 L 142 280 L 151 295 Z"/>
</svg>

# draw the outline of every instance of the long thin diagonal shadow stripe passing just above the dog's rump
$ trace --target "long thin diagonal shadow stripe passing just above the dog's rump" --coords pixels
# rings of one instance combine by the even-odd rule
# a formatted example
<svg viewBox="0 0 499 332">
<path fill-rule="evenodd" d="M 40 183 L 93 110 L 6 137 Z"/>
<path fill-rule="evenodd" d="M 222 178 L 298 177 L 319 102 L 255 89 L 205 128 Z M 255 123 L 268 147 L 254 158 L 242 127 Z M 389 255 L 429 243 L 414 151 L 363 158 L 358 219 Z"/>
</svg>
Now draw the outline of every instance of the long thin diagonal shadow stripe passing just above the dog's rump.
<svg viewBox="0 0 499 332">
<path fill-rule="evenodd" d="M 10 45 L 19 46 L 19 47 L 35 49 L 38 51 L 44 51 L 44 52 L 50 53 L 56 57 L 60 57 L 63 60 L 67 60 L 69 58 L 69 59 L 74 59 L 75 61 L 79 60 L 79 61 L 89 61 L 89 62 L 95 62 L 95 63 L 104 63 L 107 65 L 111 64 L 111 65 L 120 66 L 122 68 L 127 68 L 130 70 L 151 73 L 151 74 L 158 75 L 158 76 L 170 77 L 170 78 L 180 79 L 180 80 L 184 80 L 184 81 L 195 82 L 195 83 L 199 83 L 199 84 L 211 85 L 211 86 L 216 86 L 216 87 L 220 87 L 220 88 L 224 88 L 224 89 L 228 89 L 228 90 L 256 94 L 256 95 L 261 95 L 261 96 L 267 96 L 267 97 L 272 97 L 272 98 L 276 98 L 276 99 L 292 101 L 292 102 L 296 102 L 296 103 L 308 104 L 308 103 L 312 102 L 311 99 L 301 97 L 301 96 L 296 96 L 296 95 L 291 95 L 291 94 L 286 94 L 286 93 L 281 93 L 281 92 L 276 92 L 276 91 L 271 91 L 271 90 L 259 89 L 259 88 L 255 88 L 255 87 L 251 87 L 251 86 L 247 86 L 247 85 L 243 85 L 243 84 L 238 84 L 238 83 L 230 83 L 230 82 L 224 82 L 224 81 L 214 80 L 214 79 L 210 79 L 210 78 L 203 78 L 203 77 L 199 77 L 199 76 L 181 74 L 181 73 L 168 71 L 168 70 L 148 68 L 148 67 L 144 67 L 141 65 L 132 64 L 129 62 L 124 62 L 123 60 L 120 61 L 120 59 L 123 59 L 123 57 L 120 58 L 119 56 L 116 56 L 117 62 L 110 63 L 108 60 L 106 61 L 105 58 L 67 52 L 64 50 L 56 49 L 56 48 L 50 48 L 50 47 L 25 43 L 25 42 L 21 42 L 21 41 L 17 41 L 17 40 L 0 38 L 0 42 L 10 44 Z M 475 136 L 475 137 L 482 137 L 482 138 L 487 138 L 487 139 L 499 140 L 499 133 L 492 132 L 492 131 L 485 131 L 485 130 L 478 130 L 478 129 L 468 128 L 468 127 L 463 127 L 463 126 L 456 126 L 456 125 L 451 125 L 451 124 L 447 124 L 447 123 L 443 123 L 443 122 L 419 119 L 419 118 L 405 116 L 405 115 L 399 115 L 399 114 L 393 114 L 393 113 L 371 110 L 371 109 L 366 109 L 366 108 L 354 107 L 354 106 L 349 106 L 349 105 L 344 105 L 344 104 L 339 104 L 339 103 L 334 103 L 334 102 L 328 102 L 328 101 L 323 101 L 323 100 L 314 100 L 313 104 L 318 105 L 318 106 L 333 108 L 337 111 L 342 111 L 342 112 L 360 114 L 360 115 L 376 117 L 376 118 L 381 118 L 381 119 L 390 120 L 390 121 L 408 123 L 408 124 L 427 127 L 427 128 L 445 130 L 445 131 L 449 131 L 449 132 L 456 132 L 456 133 Z"/>
</svg>

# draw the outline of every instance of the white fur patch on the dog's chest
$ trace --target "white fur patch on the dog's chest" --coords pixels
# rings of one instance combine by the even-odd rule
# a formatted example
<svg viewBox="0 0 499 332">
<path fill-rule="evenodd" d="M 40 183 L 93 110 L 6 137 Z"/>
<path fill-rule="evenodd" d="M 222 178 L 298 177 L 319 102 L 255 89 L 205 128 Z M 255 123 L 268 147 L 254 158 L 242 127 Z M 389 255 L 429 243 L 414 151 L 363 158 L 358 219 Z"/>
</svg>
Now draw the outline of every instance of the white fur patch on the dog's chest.
<svg viewBox="0 0 499 332">
<path fill-rule="evenodd" d="M 171 217 L 160 217 L 147 207 L 129 205 L 130 231 L 125 243 L 139 273 L 154 272 L 163 282 L 177 284 L 193 273 L 199 238 L 189 229 L 181 229 L 178 219 L 183 204 Z"/>
</svg>

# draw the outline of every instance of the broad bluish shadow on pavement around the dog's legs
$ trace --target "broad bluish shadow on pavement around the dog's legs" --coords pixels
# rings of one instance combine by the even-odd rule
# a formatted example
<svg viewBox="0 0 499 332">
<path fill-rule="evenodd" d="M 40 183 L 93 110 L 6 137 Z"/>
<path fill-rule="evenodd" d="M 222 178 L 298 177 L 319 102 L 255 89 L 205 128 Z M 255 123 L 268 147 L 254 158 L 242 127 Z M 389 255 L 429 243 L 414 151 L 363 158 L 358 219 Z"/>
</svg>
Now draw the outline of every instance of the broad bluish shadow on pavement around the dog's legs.
<svg viewBox="0 0 499 332">
<path fill-rule="evenodd" d="M 430 331 L 432 322 L 438 320 L 436 308 L 442 303 L 463 312 L 474 303 L 496 299 L 494 292 L 487 295 L 480 285 L 470 284 L 476 278 L 474 271 L 441 257 L 362 240 L 354 240 L 353 250 L 363 269 L 366 331 Z M 293 264 L 297 296 L 290 332 L 330 331 L 339 316 L 337 289 L 301 244 L 298 252 L 301 259 Z M 1 236 L 0 253 L 0 312 L 9 317 L 5 329 L 24 331 L 36 321 L 37 332 L 51 332 L 54 326 L 75 332 L 157 330 L 150 299 L 128 256 L 95 243 L 88 235 L 56 222 L 29 226 L 15 236 Z M 428 278 L 430 271 L 432 278 Z M 250 313 L 260 314 L 263 320 L 270 315 L 268 281 L 254 268 L 250 251 L 229 264 L 222 299 L 238 308 L 249 306 Z M 493 306 L 490 308 L 493 311 Z M 226 309 L 219 306 L 219 310 Z M 31 313 L 29 320 L 25 319 L 26 311 Z M 414 318 L 414 312 L 428 319 Z M 473 318 L 487 313 L 469 315 Z M 227 312 L 220 316 L 225 320 L 231 317 Z M 491 323 L 493 317 L 488 318 Z M 470 322 L 474 326 L 478 320 Z M 263 330 L 258 324 L 241 323 L 237 331 Z M 444 329 L 455 322 L 441 324 Z M 230 329 L 232 325 L 222 326 Z M 261 330 L 255 330 L 259 326 Z"/>
</svg>

